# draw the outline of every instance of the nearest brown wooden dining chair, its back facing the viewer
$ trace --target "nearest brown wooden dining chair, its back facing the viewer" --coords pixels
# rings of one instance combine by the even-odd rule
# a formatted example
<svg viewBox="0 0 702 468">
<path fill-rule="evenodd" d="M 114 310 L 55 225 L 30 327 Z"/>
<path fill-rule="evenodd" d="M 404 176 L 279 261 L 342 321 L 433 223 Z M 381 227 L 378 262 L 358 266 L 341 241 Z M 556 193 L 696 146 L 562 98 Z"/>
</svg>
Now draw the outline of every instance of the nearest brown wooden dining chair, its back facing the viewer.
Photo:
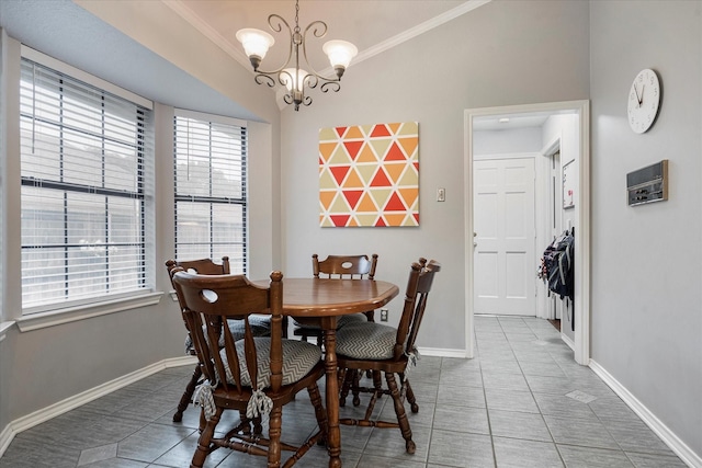
<svg viewBox="0 0 702 468">
<path fill-rule="evenodd" d="M 268 287 L 256 285 L 244 275 L 199 275 L 182 269 L 173 274 L 173 285 L 183 299 L 183 315 L 206 380 L 196 390 L 204 426 L 191 467 L 200 468 L 218 448 L 265 456 L 269 468 L 281 466 L 283 450 L 292 452 L 284 467 L 294 465 L 314 444 L 326 441 L 327 413 L 321 404 L 317 380 L 325 374 L 321 350 L 315 344 L 283 338 L 283 274 L 271 273 Z M 254 336 L 250 319 L 271 315 L 271 335 Z M 239 321 L 245 330 L 237 340 L 229 327 Z M 224 346 L 219 346 L 220 340 Z M 281 442 L 283 406 L 307 389 L 318 430 L 301 445 Z M 246 412 L 248 418 L 269 418 L 268 437 L 238 427 L 223 427 L 226 410 Z M 226 419 L 225 419 L 226 421 Z M 295 438 L 299 434 L 294 434 Z"/>
</svg>

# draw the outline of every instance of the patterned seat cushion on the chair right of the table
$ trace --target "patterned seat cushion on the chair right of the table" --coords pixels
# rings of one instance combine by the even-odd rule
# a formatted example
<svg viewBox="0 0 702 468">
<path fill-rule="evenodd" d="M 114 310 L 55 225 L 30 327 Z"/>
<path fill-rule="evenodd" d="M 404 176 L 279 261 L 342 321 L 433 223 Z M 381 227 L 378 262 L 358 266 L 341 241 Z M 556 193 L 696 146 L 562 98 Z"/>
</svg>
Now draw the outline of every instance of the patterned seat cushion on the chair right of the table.
<svg viewBox="0 0 702 468">
<path fill-rule="evenodd" d="M 375 322 L 356 322 L 337 332 L 337 354 L 354 359 L 389 359 L 397 329 Z"/>
</svg>

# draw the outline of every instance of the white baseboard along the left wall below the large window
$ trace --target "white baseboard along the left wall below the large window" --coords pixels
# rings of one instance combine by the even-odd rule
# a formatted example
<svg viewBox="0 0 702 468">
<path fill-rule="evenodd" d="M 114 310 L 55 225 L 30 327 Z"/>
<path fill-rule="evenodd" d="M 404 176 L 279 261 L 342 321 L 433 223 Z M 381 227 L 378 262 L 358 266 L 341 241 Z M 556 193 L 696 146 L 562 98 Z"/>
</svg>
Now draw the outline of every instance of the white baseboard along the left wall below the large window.
<svg viewBox="0 0 702 468">
<path fill-rule="evenodd" d="M 4 450 L 10 446 L 14 436 L 22 431 L 34 427 L 35 425 L 46 422 L 52 418 L 64 414 L 65 412 L 73 410 L 100 397 L 104 397 L 105 395 L 169 367 L 194 365 L 196 362 L 196 358 L 193 356 L 163 359 L 16 419 L 0 432 L 0 457 L 2 457 Z"/>
</svg>

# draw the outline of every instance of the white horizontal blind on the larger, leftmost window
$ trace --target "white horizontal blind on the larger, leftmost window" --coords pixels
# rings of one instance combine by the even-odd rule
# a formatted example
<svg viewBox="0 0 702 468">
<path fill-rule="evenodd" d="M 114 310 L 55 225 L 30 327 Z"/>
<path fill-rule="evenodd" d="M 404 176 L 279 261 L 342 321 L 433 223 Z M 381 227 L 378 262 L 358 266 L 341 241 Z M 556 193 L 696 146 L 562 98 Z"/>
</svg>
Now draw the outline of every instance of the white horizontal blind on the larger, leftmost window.
<svg viewBox="0 0 702 468">
<path fill-rule="evenodd" d="M 151 112 L 22 59 L 24 313 L 150 289 Z"/>
</svg>

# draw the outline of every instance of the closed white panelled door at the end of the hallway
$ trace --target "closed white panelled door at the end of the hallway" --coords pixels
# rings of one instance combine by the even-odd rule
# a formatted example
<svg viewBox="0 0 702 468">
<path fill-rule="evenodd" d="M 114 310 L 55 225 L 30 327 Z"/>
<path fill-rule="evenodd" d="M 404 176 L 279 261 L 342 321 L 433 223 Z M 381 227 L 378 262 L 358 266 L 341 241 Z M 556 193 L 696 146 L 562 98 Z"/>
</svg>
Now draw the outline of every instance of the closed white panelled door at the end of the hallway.
<svg viewBox="0 0 702 468">
<path fill-rule="evenodd" d="M 475 160 L 475 313 L 536 316 L 534 159 Z"/>
</svg>

